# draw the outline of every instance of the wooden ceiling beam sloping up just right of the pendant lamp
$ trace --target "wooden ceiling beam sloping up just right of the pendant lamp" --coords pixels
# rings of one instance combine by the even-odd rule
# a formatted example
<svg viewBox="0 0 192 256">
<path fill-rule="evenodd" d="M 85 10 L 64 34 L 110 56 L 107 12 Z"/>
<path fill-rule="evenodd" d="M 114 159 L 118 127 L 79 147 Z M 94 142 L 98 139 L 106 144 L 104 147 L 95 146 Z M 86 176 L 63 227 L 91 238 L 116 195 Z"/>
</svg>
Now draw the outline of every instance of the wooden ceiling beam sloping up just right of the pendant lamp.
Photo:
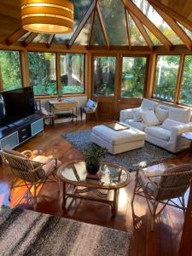
<svg viewBox="0 0 192 256">
<path fill-rule="evenodd" d="M 97 1 L 98 0 L 94 0 L 91 3 L 90 8 L 87 10 L 86 14 L 84 15 L 83 20 L 81 20 L 81 22 L 80 22 L 79 26 L 77 27 L 76 31 L 73 32 L 73 36 L 72 36 L 72 38 L 70 39 L 70 41 L 68 43 L 69 48 L 74 44 L 76 38 L 78 38 L 79 33 L 82 31 L 82 29 L 83 29 L 84 25 L 86 24 L 87 20 L 89 20 L 90 15 L 93 13 L 94 9 L 96 8 Z"/>
</svg>

